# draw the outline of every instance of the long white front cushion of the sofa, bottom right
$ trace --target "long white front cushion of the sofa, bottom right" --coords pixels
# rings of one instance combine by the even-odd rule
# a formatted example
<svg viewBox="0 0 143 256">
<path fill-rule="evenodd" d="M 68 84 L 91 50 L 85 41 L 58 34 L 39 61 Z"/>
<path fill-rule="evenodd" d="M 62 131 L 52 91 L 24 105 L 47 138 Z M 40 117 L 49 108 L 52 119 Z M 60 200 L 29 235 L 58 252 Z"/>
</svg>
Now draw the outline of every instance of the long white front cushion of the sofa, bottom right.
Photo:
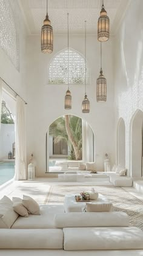
<svg viewBox="0 0 143 256">
<path fill-rule="evenodd" d="M 63 231 L 65 251 L 143 249 L 138 227 L 65 227 Z"/>
</svg>

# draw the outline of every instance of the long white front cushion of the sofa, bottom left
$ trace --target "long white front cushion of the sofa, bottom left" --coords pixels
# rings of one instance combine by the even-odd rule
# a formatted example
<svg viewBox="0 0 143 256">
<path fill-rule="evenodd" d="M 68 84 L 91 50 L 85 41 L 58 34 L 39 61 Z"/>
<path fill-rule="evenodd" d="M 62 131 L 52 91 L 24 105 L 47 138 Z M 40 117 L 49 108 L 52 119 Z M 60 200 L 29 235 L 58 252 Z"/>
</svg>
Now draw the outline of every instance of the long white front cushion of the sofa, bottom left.
<svg viewBox="0 0 143 256">
<path fill-rule="evenodd" d="M 0 249 L 63 249 L 63 231 L 61 229 L 0 229 L 0 241 Z"/>
</svg>

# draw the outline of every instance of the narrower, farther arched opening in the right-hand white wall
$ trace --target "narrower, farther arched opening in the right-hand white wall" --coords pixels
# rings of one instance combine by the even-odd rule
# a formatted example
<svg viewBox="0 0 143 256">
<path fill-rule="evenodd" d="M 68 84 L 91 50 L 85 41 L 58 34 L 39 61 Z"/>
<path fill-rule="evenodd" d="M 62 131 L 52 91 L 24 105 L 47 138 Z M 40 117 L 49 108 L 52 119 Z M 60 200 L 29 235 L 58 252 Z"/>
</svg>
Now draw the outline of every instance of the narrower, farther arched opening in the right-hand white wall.
<svg viewBox="0 0 143 256">
<path fill-rule="evenodd" d="M 122 117 L 119 119 L 117 131 L 117 164 L 125 167 L 125 122 Z"/>
</svg>

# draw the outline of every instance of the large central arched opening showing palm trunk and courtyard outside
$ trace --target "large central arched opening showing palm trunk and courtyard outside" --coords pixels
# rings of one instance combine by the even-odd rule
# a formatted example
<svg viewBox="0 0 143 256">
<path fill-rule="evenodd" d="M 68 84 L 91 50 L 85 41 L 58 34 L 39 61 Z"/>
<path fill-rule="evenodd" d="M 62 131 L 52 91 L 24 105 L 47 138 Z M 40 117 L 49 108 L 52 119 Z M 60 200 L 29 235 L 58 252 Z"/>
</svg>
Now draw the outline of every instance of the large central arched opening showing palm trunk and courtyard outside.
<svg viewBox="0 0 143 256">
<path fill-rule="evenodd" d="M 66 171 L 68 162 L 94 161 L 94 134 L 90 125 L 73 115 L 56 119 L 46 133 L 46 172 Z M 75 170 L 77 171 L 77 170 Z"/>
</svg>

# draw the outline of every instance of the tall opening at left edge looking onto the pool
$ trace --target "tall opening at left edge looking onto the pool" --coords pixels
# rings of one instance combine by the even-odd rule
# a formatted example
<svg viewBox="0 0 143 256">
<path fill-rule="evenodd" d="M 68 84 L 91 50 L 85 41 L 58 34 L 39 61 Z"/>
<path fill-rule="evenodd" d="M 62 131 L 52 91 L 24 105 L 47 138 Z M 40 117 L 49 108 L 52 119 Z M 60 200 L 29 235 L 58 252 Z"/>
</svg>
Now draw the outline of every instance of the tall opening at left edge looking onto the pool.
<svg viewBox="0 0 143 256">
<path fill-rule="evenodd" d="M 16 102 L 2 90 L 0 130 L 0 185 L 15 176 L 15 112 Z"/>
</svg>

